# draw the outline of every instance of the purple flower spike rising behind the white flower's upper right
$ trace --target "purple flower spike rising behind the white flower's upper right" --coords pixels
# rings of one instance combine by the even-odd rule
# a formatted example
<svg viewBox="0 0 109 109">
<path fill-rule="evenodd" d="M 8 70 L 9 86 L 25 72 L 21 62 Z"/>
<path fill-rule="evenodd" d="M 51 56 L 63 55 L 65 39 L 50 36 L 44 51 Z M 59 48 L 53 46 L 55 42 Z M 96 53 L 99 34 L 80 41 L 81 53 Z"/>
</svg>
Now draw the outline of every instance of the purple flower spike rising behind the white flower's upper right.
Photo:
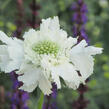
<svg viewBox="0 0 109 109">
<path fill-rule="evenodd" d="M 78 42 L 85 39 L 87 43 L 89 43 L 85 29 L 85 24 L 87 23 L 88 20 L 86 16 L 86 13 L 88 12 L 87 5 L 84 3 L 84 0 L 78 0 L 77 2 L 74 2 L 72 4 L 71 9 L 74 12 L 72 17 L 72 22 L 74 23 L 73 26 L 74 37 L 79 36 Z"/>
</svg>

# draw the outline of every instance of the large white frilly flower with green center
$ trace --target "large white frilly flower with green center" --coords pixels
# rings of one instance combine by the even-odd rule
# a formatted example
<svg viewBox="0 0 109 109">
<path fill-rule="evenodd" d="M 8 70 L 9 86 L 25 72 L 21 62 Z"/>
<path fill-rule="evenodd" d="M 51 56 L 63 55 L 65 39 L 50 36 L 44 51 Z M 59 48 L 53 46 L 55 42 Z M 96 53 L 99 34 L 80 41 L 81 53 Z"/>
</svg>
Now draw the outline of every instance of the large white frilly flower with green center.
<svg viewBox="0 0 109 109">
<path fill-rule="evenodd" d="M 68 37 L 58 17 L 43 19 L 39 31 L 30 29 L 23 38 L 12 39 L 0 32 L 5 43 L 0 46 L 0 68 L 18 70 L 18 79 L 24 83 L 20 89 L 28 92 L 39 86 L 49 95 L 53 82 L 61 88 L 60 77 L 69 88 L 77 89 L 93 73 L 92 55 L 102 53 L 102 48 L 87 46 L 85 40 L 77 44 L 76 38 Z"/>
</svg>

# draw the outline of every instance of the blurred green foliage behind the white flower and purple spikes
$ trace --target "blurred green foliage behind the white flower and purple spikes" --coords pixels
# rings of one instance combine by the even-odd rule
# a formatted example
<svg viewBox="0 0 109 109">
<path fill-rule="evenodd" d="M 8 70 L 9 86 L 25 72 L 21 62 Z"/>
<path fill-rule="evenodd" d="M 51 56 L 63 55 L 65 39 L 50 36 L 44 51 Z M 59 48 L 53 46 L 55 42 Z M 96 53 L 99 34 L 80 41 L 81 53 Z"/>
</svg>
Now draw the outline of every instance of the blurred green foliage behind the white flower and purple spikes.
<svg viewBox="0 0 109 109">
<path fill-rule="evenodd" d="M 60 25 L 69 35 L 74 36 L 72 17 L 74 11 L 71 9 L 76 0 L 37 0 L 37 12 L 33 16 L 31 7 L 32 0 L 0 0 L 0 30 L 8 36 L 19 33 L 22 37 L 24 31 L 33 27 L 38 29 L 40 19 L 59 16 Z M 85 98 L 89 100 L 86 109 L 109 109 L 109 0 L 84 0 L 87 5 L 88 21 L 85 24 L 86 34 L 91 45 L 103 47 L 102 55 L 95 58 L 94 74 L 87 83 L 88 91 Z M 34 7 L 34 6 L 33 6 Z M 35 27 L 32 21 L 36 19 Z M 21 24 L 22 23 L 22 24 Z M 18 31 L 19 25 L 21 30 Z M 22 31 L 22 32 L 21 32 Z M 0 73 L 0 93 L 3 109 L 10 109 L 12 80 L 9 74 Z M 40 90 L 36 89 L 30 94 L 28 106 L 30 109 L 38 109 L 37 102 Z M 73 101 L 78 98 L 78 91 L 64 88 L 58 91 L 58 109 L 74 109 Z M 2 108 L 1 108 L 2 109 Z"/>
</svg>

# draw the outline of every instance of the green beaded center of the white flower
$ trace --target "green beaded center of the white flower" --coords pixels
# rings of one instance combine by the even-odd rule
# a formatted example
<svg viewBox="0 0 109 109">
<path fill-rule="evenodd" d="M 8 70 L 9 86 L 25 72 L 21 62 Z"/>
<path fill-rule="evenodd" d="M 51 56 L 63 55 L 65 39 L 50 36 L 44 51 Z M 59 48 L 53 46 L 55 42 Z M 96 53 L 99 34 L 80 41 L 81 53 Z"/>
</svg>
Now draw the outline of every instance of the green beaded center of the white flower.
<svg viewBox="0 0 109 109">
<path fill-rule="evenodd" d="M 54 54 L 55 56 L 58 53 L 59 47 L 56 43 L 51 41 L 41 41 L 37 43 L 33 50 L 38 54 Z"/>
</svg>

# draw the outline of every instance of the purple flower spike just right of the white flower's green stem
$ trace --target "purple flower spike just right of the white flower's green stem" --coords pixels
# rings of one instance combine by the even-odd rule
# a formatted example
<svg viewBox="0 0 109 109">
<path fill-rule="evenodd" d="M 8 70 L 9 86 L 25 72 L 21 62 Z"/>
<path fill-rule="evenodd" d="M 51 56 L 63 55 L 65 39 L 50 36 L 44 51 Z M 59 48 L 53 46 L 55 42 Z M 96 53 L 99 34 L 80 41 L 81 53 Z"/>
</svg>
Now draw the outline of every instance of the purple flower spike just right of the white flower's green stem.
<svg viewBox="0 0 109 109">
<path fill-rule="evenodd" d="M 43 109 L 58 109 L 56 103 L 57 85 L 55 83 L 52 84 L 52 91 L 52 94 L 45 96 Z"/>
</svg>

